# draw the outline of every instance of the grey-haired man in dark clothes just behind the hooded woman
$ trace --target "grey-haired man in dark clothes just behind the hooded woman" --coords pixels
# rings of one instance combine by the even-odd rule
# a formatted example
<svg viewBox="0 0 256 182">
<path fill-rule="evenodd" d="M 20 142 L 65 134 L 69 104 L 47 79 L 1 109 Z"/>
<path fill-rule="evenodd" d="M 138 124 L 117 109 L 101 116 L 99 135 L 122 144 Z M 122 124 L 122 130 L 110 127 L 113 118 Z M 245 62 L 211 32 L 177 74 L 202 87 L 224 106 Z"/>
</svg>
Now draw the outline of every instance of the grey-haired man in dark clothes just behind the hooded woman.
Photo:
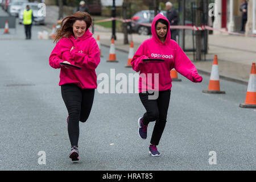
<svg viewBox="0 0 256 182">
<path fill-rule="evenodd" d="M 167 19 L 170 22 L 170 26 L 176 26 L 178 23 L 178 13 L 174 9 L 171 2 L 166 3 Z M 171 39 L 176 41 L 177 29 L 172 29 L 171 27 Z"/>
</svg>

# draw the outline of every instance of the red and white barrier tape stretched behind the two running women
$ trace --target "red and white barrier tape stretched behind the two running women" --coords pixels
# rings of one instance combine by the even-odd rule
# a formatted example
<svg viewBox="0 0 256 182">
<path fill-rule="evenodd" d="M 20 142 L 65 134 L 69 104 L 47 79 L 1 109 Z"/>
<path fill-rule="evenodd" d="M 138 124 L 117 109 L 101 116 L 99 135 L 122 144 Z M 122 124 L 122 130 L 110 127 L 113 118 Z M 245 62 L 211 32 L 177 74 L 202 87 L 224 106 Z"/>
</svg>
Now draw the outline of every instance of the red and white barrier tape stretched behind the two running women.
<svg viewBox="0 0 256 182">
<path fill-rule="evenodd" d="M 123 23 L 132 22 L 132 23 L 136 23 L 136 24 L 141 24 L 142 26 L 151 27 L 151 23 L 138 23 L 138 22 L 135 22 L 132 19 L 120 19 L 120 18 L 108 18 L 108 19 L 103 19 L 103 20 L 97 20 L 97 21 L 94 21 L 94 23 L 110 22 L 112 20 L 118 20 L 118 21 L 123 22 Z M 213 30 L 213 31 L 228 33 L 228 34 L 231 34 L 231 35 L 256 37 L 256 34 L 241 34 L 241 33 L 221 30 L 221 29 L 218 29 L 218 28 L 212 28 L 210 26 L 205 26 L 205 25 L 201 25 L 200 27 L 196 27 L 196 26 L 192 26 L 192 25 L 189 25 L 189 26 L 188 25 L 187 26 L 170 26 L 170 28 L 172 28 L 172 29 L 196 30 L 196 31 Z"/>
</svg>

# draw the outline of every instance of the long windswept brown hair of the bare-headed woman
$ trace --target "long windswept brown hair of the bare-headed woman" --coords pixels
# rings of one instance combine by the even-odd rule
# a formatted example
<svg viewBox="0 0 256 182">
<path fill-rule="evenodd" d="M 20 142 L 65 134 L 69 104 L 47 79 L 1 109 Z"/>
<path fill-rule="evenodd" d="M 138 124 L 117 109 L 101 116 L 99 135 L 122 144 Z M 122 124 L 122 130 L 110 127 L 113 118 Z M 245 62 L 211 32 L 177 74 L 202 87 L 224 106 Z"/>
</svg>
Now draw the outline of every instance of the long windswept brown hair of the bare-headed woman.
<svg viewBox="0 0 256 182">
<path fill-rule="evenodd" d="M 60 28 L 57 30 L 56 38 L 54 39 L 54 42 L 58 42 L 61 38 L 68 38 L 71 35 L 74 35 L 73 32 L 73 24 L 76 22 L 76 20 L 84 20 L 86 23 L 86 30 L 90 27 L 92 24 L 92 18 L 90 17 L 90 14 L 86 12 L 80 12 L 77 11 L 77 13 L 67 16 L 64 18 L 60 24 Z"/>
</svg>

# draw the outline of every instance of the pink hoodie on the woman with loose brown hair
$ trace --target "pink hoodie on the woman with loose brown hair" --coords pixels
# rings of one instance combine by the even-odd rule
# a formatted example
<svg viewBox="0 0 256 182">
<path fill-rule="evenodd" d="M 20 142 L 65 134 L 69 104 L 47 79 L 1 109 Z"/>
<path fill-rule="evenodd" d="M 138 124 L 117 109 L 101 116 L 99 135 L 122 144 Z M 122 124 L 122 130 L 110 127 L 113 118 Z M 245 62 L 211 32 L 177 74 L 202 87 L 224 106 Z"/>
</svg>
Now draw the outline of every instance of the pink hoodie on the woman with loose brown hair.
<svg viewBox="0 0 256 182">
<path fill-rule="evenodd" d="M 92 35 L 88 29 L 80 38 L 69 36 L 69 38 L 60 39 L 56 44 L 49 56 L 49 65 L 52 68 L 60 68 L 59 85 L 72 83 L 81 89 L 97 88 L 95 69 L 100 63 L 100 49 Z M 70 52 L 72 47 L 75 49 Z M 63 61 L 69 61 L 82 69 L 62 67 L 60 63 Z"/>
</svg>

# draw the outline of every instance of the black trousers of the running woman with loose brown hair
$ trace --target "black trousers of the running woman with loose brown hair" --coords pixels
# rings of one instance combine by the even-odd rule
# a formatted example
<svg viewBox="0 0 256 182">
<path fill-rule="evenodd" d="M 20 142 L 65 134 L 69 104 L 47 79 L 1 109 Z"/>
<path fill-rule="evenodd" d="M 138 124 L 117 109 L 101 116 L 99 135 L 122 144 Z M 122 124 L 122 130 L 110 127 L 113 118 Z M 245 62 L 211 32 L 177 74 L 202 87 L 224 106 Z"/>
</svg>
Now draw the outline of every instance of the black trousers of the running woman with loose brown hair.
<svg viewBox="0 0 256 182">
<path fill-rule="evenodd" d="M 68 136 L 78 146 L 79 121 L 85 122 L 92 109 L 95 89 L 81 89 L 75 84 L 61 85 L 61 96 L 68 110 Z"/>
</svg>

